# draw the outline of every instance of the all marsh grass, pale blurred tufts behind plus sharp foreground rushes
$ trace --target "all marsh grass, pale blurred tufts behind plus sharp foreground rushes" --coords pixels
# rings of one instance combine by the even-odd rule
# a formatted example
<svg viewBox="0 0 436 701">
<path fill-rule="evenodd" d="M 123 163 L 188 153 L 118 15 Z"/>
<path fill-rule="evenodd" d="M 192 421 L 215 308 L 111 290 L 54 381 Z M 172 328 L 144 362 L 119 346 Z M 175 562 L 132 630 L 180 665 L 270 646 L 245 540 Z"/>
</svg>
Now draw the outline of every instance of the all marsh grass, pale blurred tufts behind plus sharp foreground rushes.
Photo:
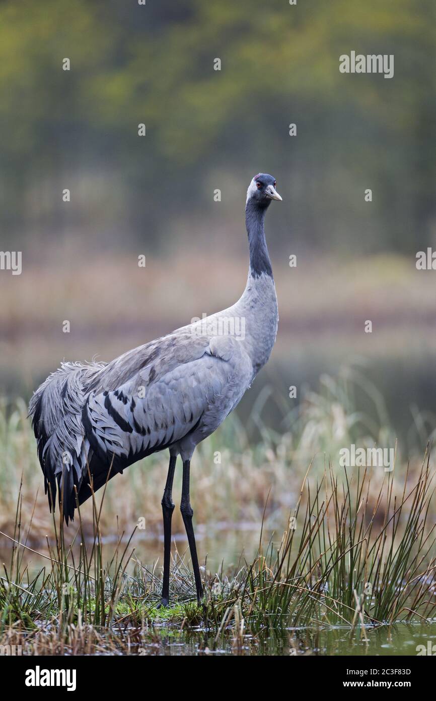
<svg viewBox="0 0 436 701">
<path fill-rule="evenodd" d="M 353 409 L 359 383 L 377 420 Z M 436 606 L 430 446 L 410 463 L 398 451 L 393 472 L 338 468 L 339 447 L 395 440 L 377 389 L 346 368 L 335 379 L 324 376 L 320 392 L 307 392 L 298 411 L 282 407 L 277 430 L 262 421 L 269 400 L 266 389 L 248 421 L 258 443 L 232 416 L 199 447 L 192 490 L 197 524 L 258 524 L 258 552 L 248 560 L 241 554 L 232 569 L 204 562 L 197 604 L 190 563 L 174 543 L 169 608 L 158 608 L 160 565 L 143 564 L 134 547 L 139 517 L 148 532 L 160 527 L 167 457 L 126 470 L 64 529 L 62 515 L 49 517 L 38 494 L 41 470 L 26 405 L 0 402 L 0 540 L 8 544 L 0 644 L 20 644 L 25 654 L 153 655 L 162 653 L 164 637 L 192 653 L 250 654 L 271 641 L 300 650 L 290 639 L 296 628 L 315 637 L 344 628 L 366 646 L 374 629 L 428 625 Z M 177 510 L 173 525 L 182 532 Z"/>
</svg>

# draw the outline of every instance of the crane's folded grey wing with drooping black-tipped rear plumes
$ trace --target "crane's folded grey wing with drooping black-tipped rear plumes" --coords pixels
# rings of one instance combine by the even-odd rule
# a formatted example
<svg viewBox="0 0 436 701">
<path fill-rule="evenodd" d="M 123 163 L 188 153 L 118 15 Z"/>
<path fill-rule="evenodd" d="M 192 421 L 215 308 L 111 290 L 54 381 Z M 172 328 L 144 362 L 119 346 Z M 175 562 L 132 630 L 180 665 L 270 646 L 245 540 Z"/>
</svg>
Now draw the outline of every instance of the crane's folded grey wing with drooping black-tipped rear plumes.
<svg viewBox="0 0 436 701">
<path fill-rule="evenodd" d="M 66 522 L 78 501 L 157 450 L 212 433 L 239 402 L 253 367 L 230 337 L 181 329 L 108 365 L 64 363 L 31 399 L 45 491 Z M 192 439 L 193 440 L 193 439 Z M 51 500 L 49 494 L 50 508 Z"/>
</svg>

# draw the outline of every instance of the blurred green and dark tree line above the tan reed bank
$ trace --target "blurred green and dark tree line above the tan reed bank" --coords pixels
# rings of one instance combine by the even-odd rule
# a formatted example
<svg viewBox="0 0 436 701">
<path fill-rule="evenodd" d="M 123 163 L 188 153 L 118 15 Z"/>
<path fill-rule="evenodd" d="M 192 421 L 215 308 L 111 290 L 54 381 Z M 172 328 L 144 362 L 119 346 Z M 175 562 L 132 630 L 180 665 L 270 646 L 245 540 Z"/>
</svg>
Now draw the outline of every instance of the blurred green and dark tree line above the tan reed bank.
<svg viewBox="0 0 436 701">
<path fill-rule="evenodd" d="M 435 26 L 433 0 L 1 1 L 1 246 L 231 243 L 259 170 L 273 249 L 430 245 Z M 351 50 L 393 79 L 340 74 Z"/>
</svg>

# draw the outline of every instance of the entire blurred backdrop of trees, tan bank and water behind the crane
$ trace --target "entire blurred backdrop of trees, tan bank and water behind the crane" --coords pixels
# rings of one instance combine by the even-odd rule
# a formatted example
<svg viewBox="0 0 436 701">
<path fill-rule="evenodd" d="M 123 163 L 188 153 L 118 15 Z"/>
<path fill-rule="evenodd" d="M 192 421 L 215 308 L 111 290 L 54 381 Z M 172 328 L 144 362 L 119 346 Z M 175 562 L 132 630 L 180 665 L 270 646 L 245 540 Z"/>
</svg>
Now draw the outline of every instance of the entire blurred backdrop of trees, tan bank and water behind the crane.
<svg viewBox="0 0 436 701">
<path fill-rule="evenodd" d="M 432 0 L 2 0 L 0 247 L 22 251 L 21 275 L 0 271 L 2 392 L 27 399 L 63 358 L 111 360 L 232 304 L 264 171 L 283 196 L 267 221 L 279 336 L 239 416 L 260 397 L 280 430 L 304 387 L 350 367 L 358 408 L 421 449 L 436 426 L 436 280 L 415 266 L 436 243 L 435 26 Z M 339 73 L 351 50 L 393 54 L 393 79 Z"/>
</svg>

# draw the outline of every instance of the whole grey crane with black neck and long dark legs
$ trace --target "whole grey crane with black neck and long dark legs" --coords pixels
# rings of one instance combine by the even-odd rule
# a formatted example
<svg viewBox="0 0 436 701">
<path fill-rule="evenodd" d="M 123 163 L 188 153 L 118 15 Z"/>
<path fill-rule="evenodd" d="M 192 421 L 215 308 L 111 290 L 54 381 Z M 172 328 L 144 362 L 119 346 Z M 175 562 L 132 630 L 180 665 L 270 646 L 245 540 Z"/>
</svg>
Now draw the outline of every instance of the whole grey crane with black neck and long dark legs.
<svg viewBox="0 0 436 701">
<path fill-rule="evenodd" d="M 272 175 L 248 186 L 246 229 L 250 251 L 242 297 L 229 308 L 127 351 L 112 362 L 63 362 L 31 397 L 29 415 L 38 443 L 50 510 L 59 500 L 66 524 L 118 472 L 169 449 L 162 497 L 164 574 L 162 605 L 169 603 L 171 489 L 183 461 L 181 513 L 190 547 L 197 599 L 202 597 L 190 505 L 190 460 L 237 406 L 265 365 L 276 340 L 278 312 L 265 240 L 265 212 L 281 200 Z M 239 331 L 232 334 L 239 320 Z"/>
</svg>

